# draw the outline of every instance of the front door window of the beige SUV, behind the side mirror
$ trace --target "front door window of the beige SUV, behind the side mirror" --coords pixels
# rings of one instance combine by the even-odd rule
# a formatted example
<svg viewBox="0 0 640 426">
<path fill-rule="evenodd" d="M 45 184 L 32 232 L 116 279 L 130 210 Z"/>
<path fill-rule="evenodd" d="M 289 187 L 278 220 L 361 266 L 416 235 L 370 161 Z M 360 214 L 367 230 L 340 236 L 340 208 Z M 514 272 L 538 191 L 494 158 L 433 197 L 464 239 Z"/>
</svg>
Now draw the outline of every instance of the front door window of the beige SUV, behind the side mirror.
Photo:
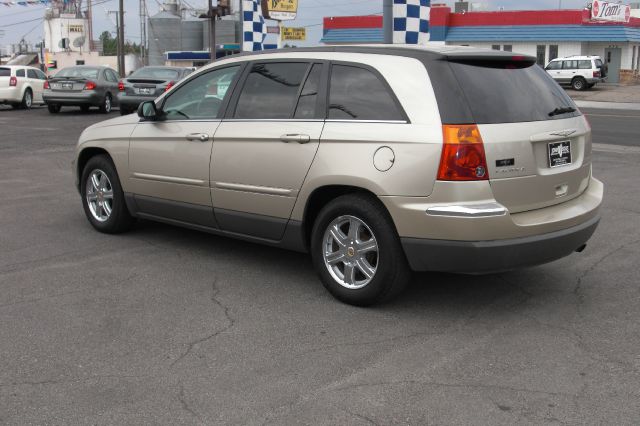
<svg viewBox="0 0 640 426">
<path fill-rule="evenodd" d="M 201 74 L 178 87 L 164 102 L 167 120 L 211 120 L 218 117 L 239 66 Z"/>
</svg>

